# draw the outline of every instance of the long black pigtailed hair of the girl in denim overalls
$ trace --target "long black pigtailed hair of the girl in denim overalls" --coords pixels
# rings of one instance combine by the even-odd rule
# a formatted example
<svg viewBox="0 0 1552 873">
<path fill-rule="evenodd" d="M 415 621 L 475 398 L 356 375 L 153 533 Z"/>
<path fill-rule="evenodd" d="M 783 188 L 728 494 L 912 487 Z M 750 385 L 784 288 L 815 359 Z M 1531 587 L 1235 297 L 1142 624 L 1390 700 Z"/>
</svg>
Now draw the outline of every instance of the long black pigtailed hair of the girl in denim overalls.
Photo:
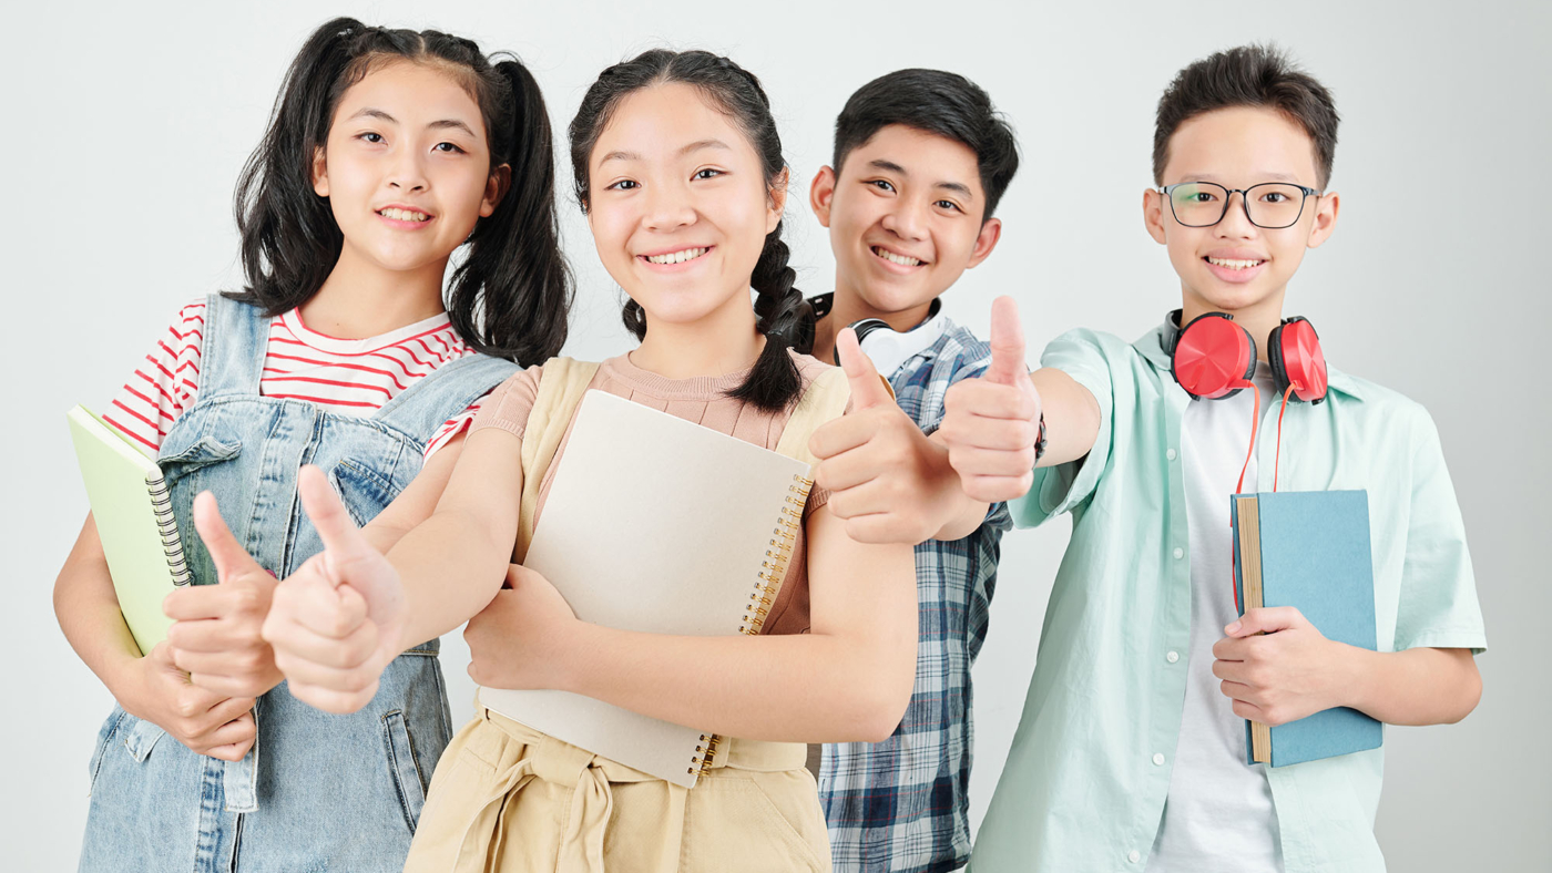
<svg viewBox="0 0 1552 873">
<path fill-rule="evenodd" d="M 237 183 L 247 287 L 230 298 L 279 315 L 310 299 L 340 259 L 345 237 L 312 186 L 345 91 L 376 64 L 405 59 L 449 68 L 484 116 L 492 172 L 511 167 L 509 189 L 475 223 L 453 271 L 447 313 L 475 349 L 520 364 L 554 357 L 566 340 L 571 271 L 556 222 L 556 157 L 539 84 L 517 57 L 486 57 L 439 31 L 369 28 L 334 19 L 292 60 L 270 126 Z"/>
</svg>

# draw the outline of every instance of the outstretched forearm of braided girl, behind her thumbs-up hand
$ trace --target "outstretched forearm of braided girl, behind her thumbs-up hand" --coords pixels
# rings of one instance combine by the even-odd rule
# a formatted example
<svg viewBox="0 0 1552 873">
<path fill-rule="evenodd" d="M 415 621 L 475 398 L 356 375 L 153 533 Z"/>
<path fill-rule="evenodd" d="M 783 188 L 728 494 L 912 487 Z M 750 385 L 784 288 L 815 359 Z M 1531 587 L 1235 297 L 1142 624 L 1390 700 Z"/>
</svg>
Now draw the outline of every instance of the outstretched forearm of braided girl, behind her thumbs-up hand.
<svg viewBox="0 0 1552 873">
<path fill-rule="evenodd" d="M 438 512 L 402 535 L 388 561 L 404 583 L 407 622 L 400 651 L 472 619 L 501 589 L 512 540 L 497 538 L 464 510 Z"/>
</svg>

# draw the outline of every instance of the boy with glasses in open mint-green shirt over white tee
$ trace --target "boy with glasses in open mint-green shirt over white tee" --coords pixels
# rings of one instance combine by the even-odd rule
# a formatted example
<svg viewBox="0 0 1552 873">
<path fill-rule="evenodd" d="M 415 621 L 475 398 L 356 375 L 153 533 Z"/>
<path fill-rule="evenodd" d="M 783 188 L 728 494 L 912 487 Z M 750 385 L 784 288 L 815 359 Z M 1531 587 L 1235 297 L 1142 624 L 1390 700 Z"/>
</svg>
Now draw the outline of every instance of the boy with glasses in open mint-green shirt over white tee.
<svg viewBox="0 0 1552 873">
<path fill-rule="evenodd" d="M 947 399 L 941 431 L 968 492 L 1020 498 L 1010 510 L 1026 527 L 1072 512 L 976 870 L 1383 871 L 1383 747 L 1246 764 L 1243 719 L 1352 707 L 1439 724 L 1478 702 L 1482 616 L 1428 412 L 1335 367 L 1318 403 L 1273 391 L 1268 338 L 1288 282 L 1336 226 L 1336 122 L 1330 93 L 1271 48 L 1183 70 L 1159 101 L 1142 203 L 1181 309 L 1131 344 L 1093 330 L 1055 340 L 1037 375 L 1071 377 L 1086 389 L 1079 403 L 1038 381 L 981 380 Z M 1228 374 L 1245 389 L 1217 400 L 1189 395 L 1172 361 L 1180 329 L 1207 313 L 1231 315 L 1260 357 L 1248 378 Z M 1006 425 L 1041 411 L 1051 443 L 1026 495 L 1031 443 Z M 1367 490 L 1378 651 L 1327 640 L 1294 608 L 1238 617 L 1229 495 L 1279 478 L 1282 490 Z"/>
</svg>

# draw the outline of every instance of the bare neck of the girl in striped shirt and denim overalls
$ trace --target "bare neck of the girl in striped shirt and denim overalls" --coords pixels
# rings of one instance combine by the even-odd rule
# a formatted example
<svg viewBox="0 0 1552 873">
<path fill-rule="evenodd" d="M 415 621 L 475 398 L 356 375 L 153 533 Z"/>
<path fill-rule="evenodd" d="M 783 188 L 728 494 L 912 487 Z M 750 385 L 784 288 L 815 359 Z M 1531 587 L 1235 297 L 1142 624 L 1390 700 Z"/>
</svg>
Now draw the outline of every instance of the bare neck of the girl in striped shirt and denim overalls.
<svg viewBox="0 0 1552 873">
<path fill-rule="evenodd" d="M 301 305 L 301 316 L 329 336 L 380 336 L 441 315 L 445 271 L 445 257 L 416 270 L 386 270 L 346 242 L 323 287 Z"/>
</svg>

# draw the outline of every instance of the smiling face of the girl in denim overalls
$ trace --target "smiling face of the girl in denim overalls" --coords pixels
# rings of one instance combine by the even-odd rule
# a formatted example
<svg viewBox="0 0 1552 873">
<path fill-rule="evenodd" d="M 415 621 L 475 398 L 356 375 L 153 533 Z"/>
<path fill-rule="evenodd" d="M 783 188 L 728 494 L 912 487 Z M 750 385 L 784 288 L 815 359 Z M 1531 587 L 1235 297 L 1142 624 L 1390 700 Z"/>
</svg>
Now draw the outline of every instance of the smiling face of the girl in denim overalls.
<svg viewBox="0 0 1552 873">
<path fill-rule="evenodd" d="M 340 98 L 312 175 L 345 234 L 341 261 L 416 271 L 445 265 L 495 209 L 504 172 L 492 172 L 480 105 L 455 78 L 391 60 Z"/>
</svg>

